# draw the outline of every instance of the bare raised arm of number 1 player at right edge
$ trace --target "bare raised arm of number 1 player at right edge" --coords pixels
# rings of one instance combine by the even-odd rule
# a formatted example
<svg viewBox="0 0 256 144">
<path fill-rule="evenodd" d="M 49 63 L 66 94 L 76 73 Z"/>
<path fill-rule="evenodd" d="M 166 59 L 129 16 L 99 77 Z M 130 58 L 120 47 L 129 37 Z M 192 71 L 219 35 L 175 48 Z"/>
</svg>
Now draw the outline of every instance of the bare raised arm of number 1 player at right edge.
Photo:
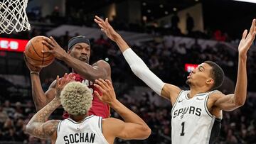
<svg viewBox="0 0 256 144">
<path fill-rule="evenodd" d="M 255 19 L 252 21 L 252 26 L 250 32 L 247 33 L 245 30 L 242 33 L 242 39 L 238 46 L 238 77 L 235 85 L 235 94 L 229 94 L 225 96 L 224 94 L 216 94 L 215 106 L 218 106 L 224 111 L 233 111 L 238 107 L 245 104 L 245 99 L 247 95 L 247 72 L 246 72 L 246 62 L 247 62 L 247 51 L 252 45 L 253 40 L 255 40 L 256 34 L 256 23 Z"/>
</svg>

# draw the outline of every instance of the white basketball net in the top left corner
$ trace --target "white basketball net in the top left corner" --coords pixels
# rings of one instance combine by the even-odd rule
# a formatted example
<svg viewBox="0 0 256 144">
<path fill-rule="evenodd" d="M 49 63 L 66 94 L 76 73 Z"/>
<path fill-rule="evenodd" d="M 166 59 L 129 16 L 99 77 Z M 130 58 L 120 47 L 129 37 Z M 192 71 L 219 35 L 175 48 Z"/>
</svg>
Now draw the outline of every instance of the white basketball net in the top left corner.
<svg viewBox="0 0 256 144">
<path fill-rule="evenodd" d="M 26 16 L 27 4 L 28 0 L 0 1 L 0 33 L 18 33 L 31 29 Z"/>
</svg>

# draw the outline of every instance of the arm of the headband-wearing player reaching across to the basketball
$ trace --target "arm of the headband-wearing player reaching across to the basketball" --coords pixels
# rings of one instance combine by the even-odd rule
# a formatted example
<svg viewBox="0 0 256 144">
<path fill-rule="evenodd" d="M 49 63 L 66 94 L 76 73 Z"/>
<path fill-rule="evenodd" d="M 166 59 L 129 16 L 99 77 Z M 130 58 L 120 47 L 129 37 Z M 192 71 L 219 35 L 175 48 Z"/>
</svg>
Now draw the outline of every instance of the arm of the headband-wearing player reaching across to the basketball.
<svg viewBox="0 0 256 144">
<path fill-rule="evenodd" d="M 63 48 L 58 45 L 53 37 L 44 38 L 43 44 L 46 45 L 50 50 L 45 50 L 45 53 L 53 54 L 58 60 L 63 60 L 69 67 L 72 67 L 75 72 L 78 72 L 81 76 L 85 77 L 90 81 L 95 81 L 95 79 L 110 79 L 110 65 L 103 61 L 97 61 L 93 65 L 89 65 L 85 62 L 82 62 L 71 55 L 68 55 Z"/>
</svg>

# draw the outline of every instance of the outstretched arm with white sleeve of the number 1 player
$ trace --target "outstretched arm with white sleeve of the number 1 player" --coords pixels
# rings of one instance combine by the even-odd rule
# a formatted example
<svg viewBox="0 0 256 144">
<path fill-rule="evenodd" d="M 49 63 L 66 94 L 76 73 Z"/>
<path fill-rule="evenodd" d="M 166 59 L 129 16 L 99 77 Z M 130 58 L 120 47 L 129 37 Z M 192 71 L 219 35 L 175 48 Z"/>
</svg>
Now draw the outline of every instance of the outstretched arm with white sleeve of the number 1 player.
<svg viewBox="0 0 256 144">
<path fill-rule="evenodd" d="M 131 48 L 129 48 L 129 45 L 127 45 L 122 36 L 114 31 L 114 28 L 110 26 L 110 23 L 108 23 L 107 18 L 105 21 L 103 21 L 100 17 L 95 16 L 95 22 L 98 24 L 98 26 L 100 26 L 101 31 L 104 32 L 108 38 L 117 43 L 119 49 L 124 55 L 125 60 L 127 60 L 129 66 L 131 67 L 132 72 L 134 72 L 139 79 L 142 79 L 142 81 L 153 89 L 154 92 L 166 99 L 171 100 L 171 103 L 174 104 L 178 93 L 181 92 L 181 89 L 172 84 L 165 84 L 161 81 L 161 79 L 159 79 L 159 77 L 151 72 L 143 60 L 136 55 Z"/>
</svg>

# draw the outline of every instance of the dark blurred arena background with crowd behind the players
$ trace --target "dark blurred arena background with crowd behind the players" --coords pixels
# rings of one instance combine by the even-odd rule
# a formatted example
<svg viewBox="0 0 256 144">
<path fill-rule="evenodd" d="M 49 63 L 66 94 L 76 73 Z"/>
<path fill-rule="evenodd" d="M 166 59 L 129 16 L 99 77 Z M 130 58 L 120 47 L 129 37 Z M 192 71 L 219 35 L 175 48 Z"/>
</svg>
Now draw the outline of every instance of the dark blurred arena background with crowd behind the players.
<svg viewBox="0 0 256 144">
<path fill-rule="evenodd" d="M 29 0 L 26 10 L 31 31 L 0 35 L 0 143 L 3 144 L 50 143 L 23 132 L 36 112 L 30 74 L 23 61 L 23 45 L 36 35 L 52 35 L 65 50 L 68 40 L 75 35 L 90 38 L 90 62 L 102 59 L 110 63 L 117 98 L 138 113 L 152 130 L 146 140 L 117 139 L 115 143 L 164 144 L 171 143 L 171 104 L 132 73 L 117 45 L 102 35 L 94 16 L 109 17 L 114 29 L 157 76 L 182 89 L 188 89 L 186 76 L 195 65 L 205 60 L 217 62 L 225 71 L 225 82 L 220 88 L 224 94 L 235 89 L 238 43 L 242 31 L 250 28 L 252 18 L 256 18 L 256 4 L 232 0 Z M 247 58 L 245 106 L 223 113 L 216 143 L 256 143 L 255 47 L 254 43 Z M 43 90 L 48 89 L 57 74 L 65 72 L 70 70 L 58 60 L 44 68 Z M 61 118 L 62 113 L 63 109 L 58 109 L 51 118 Z M 114 111 L 112 116 L 119 118 Z"/>
</svg>

